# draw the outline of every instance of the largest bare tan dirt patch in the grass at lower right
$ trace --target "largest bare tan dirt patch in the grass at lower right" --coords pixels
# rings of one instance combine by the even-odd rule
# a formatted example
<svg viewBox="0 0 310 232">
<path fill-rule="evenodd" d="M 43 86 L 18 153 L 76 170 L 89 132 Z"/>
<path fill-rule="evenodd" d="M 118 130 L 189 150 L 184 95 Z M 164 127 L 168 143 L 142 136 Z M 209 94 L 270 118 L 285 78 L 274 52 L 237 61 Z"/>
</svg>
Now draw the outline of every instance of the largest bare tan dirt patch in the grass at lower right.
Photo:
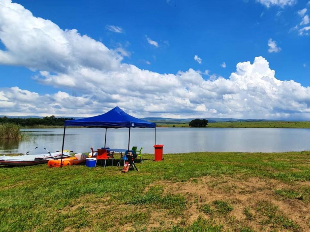
<svg viewBox="0 0 310 232">
<path fill-rule="evenodd" d="M 275 194 L 276 189 L 292 189 L 300 184 L 287 184 L 273 179 L 247 178 L 238 179 L 230 177 L 212 178 L 202 177 L 191 179 L 182 183 L 157 183 L 165 186 L 164 193 L 185 194 L 191 204 L 185 210 L 184 219 L 190 225 L 199 216 L 210 218 L 201 212 L 199 207 L 203 204 L 212 204 L 214 200 L 229 201 L 233 210 L 226 217 L 215 217 L 215 220 L 224 224 L 224 229 L 232 229 L 232 226 L 250 226 L 254 230 L 272 230 L 272 226 L 262 226 L 260 215 L 249 221 L 244 214 L 244 208 L 250 207 L 255 212 L 259 201 L 268 201 L 279 208 L 279 211 L 288 219 L 292 219 L 300 227 L 301 231 L 310 231 L 309 203 L 297 199 L 282 199 Z M 257 213 L 256 213 L 257 214 Z M 290 231 L 290 229 L 287 229 Z"/>
</svg>

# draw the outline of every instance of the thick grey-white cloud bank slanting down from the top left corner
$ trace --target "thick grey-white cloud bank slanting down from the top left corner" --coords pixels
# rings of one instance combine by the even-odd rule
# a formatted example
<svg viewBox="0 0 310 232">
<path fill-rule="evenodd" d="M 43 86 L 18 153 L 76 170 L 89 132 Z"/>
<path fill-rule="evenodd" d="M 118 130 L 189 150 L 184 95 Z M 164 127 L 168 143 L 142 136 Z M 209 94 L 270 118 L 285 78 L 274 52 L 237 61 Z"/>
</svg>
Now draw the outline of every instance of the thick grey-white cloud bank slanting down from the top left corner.
<svg viewBox="0 0 310 232">
<path fill-rule="evenodd" d="M 122 61 L 117 51 L 77 30 L 61 30 L 50 20 L 36 18 L 17 3 L 0 1 L 0 64 L 51 72 L 78 67 L 115 70 Z M 27 55 L 25 55 L 27 54 Z"/>
</svg>

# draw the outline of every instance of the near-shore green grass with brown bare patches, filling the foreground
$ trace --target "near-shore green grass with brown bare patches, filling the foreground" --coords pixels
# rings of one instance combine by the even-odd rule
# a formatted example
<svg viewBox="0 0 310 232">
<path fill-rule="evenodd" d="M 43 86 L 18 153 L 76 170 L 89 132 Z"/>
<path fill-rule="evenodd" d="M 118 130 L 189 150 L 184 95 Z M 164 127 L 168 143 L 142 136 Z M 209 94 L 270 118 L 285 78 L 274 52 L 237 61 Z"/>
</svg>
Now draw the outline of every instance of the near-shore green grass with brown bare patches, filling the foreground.
<svg viewBox="0 0 310 232">
<path fill-rule="evenodd" d="M 309 231 L 310 152 L 0 167 L 0 231 Z"/>
</svg>

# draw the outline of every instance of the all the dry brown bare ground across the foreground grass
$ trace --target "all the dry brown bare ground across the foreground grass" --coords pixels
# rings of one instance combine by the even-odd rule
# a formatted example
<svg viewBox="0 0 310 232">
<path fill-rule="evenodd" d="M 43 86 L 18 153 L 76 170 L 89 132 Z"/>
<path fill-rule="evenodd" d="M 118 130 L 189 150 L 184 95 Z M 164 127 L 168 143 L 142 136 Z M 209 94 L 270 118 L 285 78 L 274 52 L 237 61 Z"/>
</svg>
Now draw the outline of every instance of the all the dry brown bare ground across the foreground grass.
<svg viewBox="0 0 310 232">
<path fill-rule="evenodd" d="M 211 219 L 216 224 L 222 224 L 224 231 L 241 231 L 241 228 L 251 228 L 254 231 L 310 231 L 310 205 L 307 201 L 297 199 L 286 199 L 275 193 L 276 189 L 298 189 L 300 186 L 308 186 L 308 182 L 282 183 L 274 179 L 247 178 L 244 177 L 201 177 L 190 179 L 187 182 L 166 182 L 157 181 L 145 188 L 147 192 L 150 187 L 161 185 L 164 187 L 163 195 L 182 194 L 187 201 L 183 216 L 177 218 L 169 215 L 166 209 L 158 205 L 128 205 L 116 204 L 109 198 L 96 200 L 96 206 L 77 200 L 75 204 L 66 208 L 63 213 L 78 210 L 84 206 L 90 215 L 109 215 L 113 217 L 113 228 L 108 231 L 152 231 L 155 228 L 161 230 L 170 229 L 173 225 L 190 226 L 199 217 Z M 99 200 L 99 201 L 98 201 Z M 218 214 L 215 211 L 214 201 L 225 201 L 232 205 L 233 209 L 227 214 Z M 257 204 L 260 201 L 267 201 L 278 207 L 278 213 L 284 215 L 288 220 L 298 224 L 297 228 L 284 228 L 274 224 L 264 224 L 268 219 L 257 211 Z M 205 204 L 210 205 L 215 213 L 208 214 L 201 210 Z M 252 218 L 246 216 L 245 208 L 248 208 Z M 147 219 L 143 222 L 126 221 L 126 215 L 132 213 L 146 213 Z M 92 221 L 98 224 L 101 217 L 92 217 Z M 72 228 L 71 228 L 72 229 Z M 88 228 L 90 229 L 90 228 Z M 90 229 L 91 230 L 91 229 Z"/>
</svg>

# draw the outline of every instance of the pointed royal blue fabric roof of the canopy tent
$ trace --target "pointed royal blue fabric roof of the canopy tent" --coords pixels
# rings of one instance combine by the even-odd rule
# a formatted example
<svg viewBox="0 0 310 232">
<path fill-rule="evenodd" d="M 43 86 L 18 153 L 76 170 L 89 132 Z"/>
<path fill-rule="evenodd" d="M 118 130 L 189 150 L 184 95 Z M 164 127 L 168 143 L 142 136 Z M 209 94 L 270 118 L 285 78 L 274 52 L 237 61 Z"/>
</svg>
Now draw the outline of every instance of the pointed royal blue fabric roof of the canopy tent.
<svg viewBox="0 0 310 232">
<path fill-rule="evenodd" d="M 64 121 L 65 127 L 102 127 L 102 128 L 120 128 L 120 127 L 156 127 L 153 122 L 144 121 L 139 118 L 132 117 L 125 113 L 118 106 L 105 114 L 94 117 L 81 118 Z"/>
</svg>

